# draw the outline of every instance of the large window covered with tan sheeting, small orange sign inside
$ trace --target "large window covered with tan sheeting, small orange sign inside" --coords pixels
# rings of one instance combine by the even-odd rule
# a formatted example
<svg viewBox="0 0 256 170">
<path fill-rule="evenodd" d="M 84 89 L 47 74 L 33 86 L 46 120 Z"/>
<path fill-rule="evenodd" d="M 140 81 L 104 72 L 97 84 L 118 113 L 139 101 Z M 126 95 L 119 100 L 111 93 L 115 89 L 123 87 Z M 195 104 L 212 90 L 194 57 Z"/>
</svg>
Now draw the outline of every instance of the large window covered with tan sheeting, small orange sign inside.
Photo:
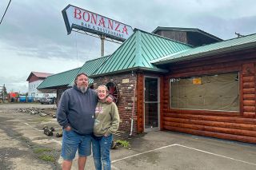
<svg viewBox="0 0 256 170">
<path fill-rule="evenodd" d="M 172 109 L 239 110 L 238 73 L 170 79 Z"/>
</svg>

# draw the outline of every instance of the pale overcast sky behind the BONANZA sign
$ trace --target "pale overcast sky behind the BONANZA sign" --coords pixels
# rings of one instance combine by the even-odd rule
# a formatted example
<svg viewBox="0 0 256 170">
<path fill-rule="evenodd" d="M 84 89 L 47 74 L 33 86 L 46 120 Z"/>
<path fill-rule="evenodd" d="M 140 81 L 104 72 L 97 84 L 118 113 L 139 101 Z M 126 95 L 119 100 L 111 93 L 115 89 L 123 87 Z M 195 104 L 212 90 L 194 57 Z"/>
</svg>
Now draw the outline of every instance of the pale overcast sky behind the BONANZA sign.
<svg viewBox="0 0 256 170">
<path fill-rule="evenodd" d="M 1 18 L 9 1 L 0 2 Z M 61 73 L 100 57 L 99 38 L 67 35 L 62 10 L 69 4 L 147 32 L 198 28 L 225 40 L 256 33 L 254 0 L 12 0 L 0 25 L 0 86 L 26 93 L 32 71 Z M 106 42 L 105 54 L 118 46 Z"/>
</svg>

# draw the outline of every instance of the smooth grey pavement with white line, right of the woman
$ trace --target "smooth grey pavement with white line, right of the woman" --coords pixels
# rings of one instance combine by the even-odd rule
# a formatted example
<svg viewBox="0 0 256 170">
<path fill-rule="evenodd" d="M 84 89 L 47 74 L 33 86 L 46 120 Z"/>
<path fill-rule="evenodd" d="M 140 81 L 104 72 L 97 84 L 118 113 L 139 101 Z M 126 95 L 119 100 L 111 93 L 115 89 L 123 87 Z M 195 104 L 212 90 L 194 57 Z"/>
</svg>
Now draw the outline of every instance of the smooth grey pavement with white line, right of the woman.
<svg viewBox="0 0 256 170">
<path fill-rule="evenodd" d="M 150 132 L 132 145 L 134 153 L 115 158 L 113 169 L 256 169 L 254 144 Z"/>
</svg>

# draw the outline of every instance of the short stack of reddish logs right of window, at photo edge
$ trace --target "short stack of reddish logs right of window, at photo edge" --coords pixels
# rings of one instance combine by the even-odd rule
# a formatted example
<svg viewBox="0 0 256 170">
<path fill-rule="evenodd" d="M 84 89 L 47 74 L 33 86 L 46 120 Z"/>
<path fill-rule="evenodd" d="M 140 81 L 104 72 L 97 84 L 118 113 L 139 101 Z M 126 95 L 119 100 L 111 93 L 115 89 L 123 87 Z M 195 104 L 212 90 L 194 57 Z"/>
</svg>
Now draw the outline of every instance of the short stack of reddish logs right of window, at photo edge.
<svg viewBox="0 0 256 170">
<path fill-rule="evenodd" d="M 255 118 L 255 63 L 242 65 L 242 115 Z"/>
</svg>

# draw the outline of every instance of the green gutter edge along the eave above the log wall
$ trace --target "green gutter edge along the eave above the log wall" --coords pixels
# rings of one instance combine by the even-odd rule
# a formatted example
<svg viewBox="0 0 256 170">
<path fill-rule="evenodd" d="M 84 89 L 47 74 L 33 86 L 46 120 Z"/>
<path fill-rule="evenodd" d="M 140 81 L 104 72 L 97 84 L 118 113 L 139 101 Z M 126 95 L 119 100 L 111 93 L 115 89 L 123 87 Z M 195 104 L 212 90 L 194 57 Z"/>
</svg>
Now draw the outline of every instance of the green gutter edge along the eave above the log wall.
<svg viewBox="0 0 256 170">
<path fill-rule="evenodd" d="M 152 61 L 151 64 L 154 65 L 163 65 L 163 64 L 168 64 L 168 63 L 174 63 L 174 62 L 178 62 L 178 61 L 189 61 L 189 60 L 193 60 L 194 58 L 202 58 L 202 57 L 208 57 L 208 56 L 212 56 L 215 54 L 223 54 L 223 53 L 230 53 L 230 52 L 235 52 L 235 51 L 239 51 L 242 49 L 252 49 L 256 47 L 256 42 L 251 42 L 248 44 L 243 44 L 243 45 L 231 45 L 229 47 L 223 48 L 223 49 L 215 49 L 215 50 L 210 50 L 210 51 L 206 51 L 203 53 L 195 53 L 195 54 L 191 54 L 188 56 L 184 56 L 184 57 L 177 57 L 177 58 L 173 58 L 173 59 L 165 59 L 163 61 L 158 60 L 158 61 Z"/>
</svg>

